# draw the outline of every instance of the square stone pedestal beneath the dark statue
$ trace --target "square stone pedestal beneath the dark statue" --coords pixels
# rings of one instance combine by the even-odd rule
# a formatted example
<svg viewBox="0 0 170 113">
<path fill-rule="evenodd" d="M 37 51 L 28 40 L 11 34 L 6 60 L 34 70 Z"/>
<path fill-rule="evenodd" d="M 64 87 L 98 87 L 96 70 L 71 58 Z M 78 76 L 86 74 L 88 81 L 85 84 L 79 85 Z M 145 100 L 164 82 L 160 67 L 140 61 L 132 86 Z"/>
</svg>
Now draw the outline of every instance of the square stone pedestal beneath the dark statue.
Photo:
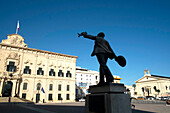
<svg viewBox="0 0 170 113">
<path fill-rule="evenodd" d="M 86 113 L 132 113 L 130 96 L 124 84 L 90 86 L 86 96 Z"/>
</svg>

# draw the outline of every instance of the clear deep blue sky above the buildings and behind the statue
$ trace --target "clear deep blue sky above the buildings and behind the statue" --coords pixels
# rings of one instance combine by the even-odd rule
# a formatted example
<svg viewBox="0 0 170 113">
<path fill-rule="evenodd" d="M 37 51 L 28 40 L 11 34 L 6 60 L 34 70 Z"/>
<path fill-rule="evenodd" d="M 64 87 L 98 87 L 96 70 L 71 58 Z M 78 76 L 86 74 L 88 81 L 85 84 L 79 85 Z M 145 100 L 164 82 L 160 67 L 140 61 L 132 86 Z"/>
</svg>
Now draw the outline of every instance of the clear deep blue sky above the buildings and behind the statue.
<svg viewBox="0 0 170 113">
<path fill-rule="evenodd" d="M 169 0 L 1 0 L 0 40 L 16 31 L 29 48 L 78 56 L 77 66 L 98 71 L 91 57 L 94 42 L 77 33 L 106 34 L 122 68 L 108 60 L 113 75 L 126 85 L 151 74 L 170 77 Z"/>
</svg>

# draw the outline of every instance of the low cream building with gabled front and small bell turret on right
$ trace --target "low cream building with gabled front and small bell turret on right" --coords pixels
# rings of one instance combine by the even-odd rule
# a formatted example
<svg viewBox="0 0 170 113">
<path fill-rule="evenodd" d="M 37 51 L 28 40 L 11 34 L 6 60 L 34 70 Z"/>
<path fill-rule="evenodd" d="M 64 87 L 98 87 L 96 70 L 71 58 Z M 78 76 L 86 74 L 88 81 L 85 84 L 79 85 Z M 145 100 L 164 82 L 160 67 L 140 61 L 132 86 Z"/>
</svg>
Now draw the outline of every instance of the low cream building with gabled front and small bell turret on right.
<svg viewBox="0 0 170 113">
<path fill-rule="evenodd" d="M 170 77 L 151 75 L 149 70 L 144 71 L 144 77 L 137 80 L 136 96 L 168 96 L 170 95 Z"/>
</svg>

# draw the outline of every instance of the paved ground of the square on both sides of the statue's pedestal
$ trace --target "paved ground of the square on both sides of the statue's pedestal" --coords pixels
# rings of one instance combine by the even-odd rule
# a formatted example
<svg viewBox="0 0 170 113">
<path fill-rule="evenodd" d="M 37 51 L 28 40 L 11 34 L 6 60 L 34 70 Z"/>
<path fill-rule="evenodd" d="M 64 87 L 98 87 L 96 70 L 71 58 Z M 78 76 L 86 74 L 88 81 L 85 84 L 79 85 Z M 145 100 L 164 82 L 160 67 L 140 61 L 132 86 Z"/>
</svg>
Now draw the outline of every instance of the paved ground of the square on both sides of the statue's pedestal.
<svg viewBox="0 0 170 113">
<path fill-rule="evenodd" d="M 135 103 L 132 113 L 170 113 L 170 105 Z M 0 113 L 85 113 L 84 102 L 0 104 Z"/>
</svg>

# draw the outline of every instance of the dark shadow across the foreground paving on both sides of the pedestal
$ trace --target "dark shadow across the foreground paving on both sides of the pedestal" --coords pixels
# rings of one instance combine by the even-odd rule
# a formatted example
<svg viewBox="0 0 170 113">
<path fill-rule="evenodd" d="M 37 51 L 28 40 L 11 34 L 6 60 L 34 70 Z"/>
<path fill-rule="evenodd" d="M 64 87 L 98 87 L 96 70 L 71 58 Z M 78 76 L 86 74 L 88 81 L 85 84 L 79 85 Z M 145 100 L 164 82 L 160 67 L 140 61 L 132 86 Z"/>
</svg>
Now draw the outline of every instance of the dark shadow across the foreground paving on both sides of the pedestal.
<svg viewBox="0 0 170 113">
<path fill-rule="evenodd" d="M 85 113 L 84 105 L 0 104 L 0 113 Z M 132 109 L 132 113 L 155 113 Z"/>
</svg>

